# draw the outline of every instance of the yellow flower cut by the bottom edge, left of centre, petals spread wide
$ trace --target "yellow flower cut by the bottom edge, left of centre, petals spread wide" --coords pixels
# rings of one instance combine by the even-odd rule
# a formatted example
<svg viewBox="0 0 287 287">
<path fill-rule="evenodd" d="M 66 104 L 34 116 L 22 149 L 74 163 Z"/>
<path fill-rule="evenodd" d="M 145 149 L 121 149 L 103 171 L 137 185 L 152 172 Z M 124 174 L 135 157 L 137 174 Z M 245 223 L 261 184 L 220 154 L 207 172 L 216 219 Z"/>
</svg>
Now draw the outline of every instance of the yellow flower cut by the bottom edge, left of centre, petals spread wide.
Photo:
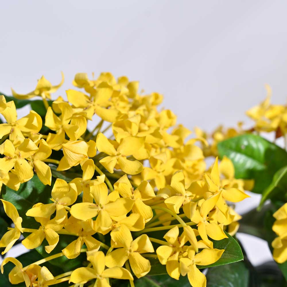
<svg viewBox="0 0 287 287">
<path fill-rule="evenodd" d="M 105 255 L 102 251 L 88 251 L 87 259 L 92 263 L 93 268 L 77 268 L 72 272 L 69 283 L 85 284 L 92 279 L 96 279 L 94 286 L 109 287 L 110 284 L 108 284 L 108 278 L 133 280 L 131 273 L 123 267 L 105 269 Z"/>
</svg>

